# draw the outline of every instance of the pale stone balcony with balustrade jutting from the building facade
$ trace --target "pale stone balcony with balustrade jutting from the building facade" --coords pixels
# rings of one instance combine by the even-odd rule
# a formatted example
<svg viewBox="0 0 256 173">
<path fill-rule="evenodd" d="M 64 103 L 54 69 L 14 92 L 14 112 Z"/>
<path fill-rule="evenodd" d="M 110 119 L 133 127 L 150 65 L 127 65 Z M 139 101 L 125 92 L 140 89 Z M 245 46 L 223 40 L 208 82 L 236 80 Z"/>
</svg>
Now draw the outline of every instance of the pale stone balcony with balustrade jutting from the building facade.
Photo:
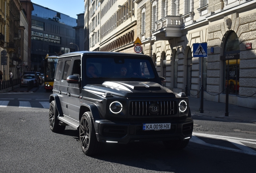
<svg viewBox="0 0 256 173">
<path fill-rule="evenodd" d="M 155 22 L 155 29 L 151 30 L 156 40 L 169 40 L 182 36 L 182 18 L 180 16 L 166 16 Z"/>
</svg>

